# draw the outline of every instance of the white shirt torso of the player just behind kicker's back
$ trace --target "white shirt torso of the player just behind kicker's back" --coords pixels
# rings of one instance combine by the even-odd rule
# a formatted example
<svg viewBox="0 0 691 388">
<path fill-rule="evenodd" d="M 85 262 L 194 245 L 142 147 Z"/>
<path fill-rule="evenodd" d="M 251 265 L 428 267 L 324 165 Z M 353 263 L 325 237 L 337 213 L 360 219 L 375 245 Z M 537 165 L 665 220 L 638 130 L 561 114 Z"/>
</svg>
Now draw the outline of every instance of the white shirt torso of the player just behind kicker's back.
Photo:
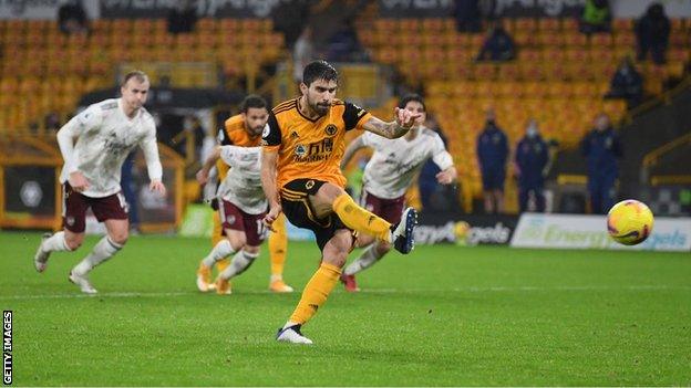
<svg viewBox="0 0 691 388">
<path fill-rule="evenodd" d="M 230 166 L 217 196 L 248 214 L 267 211 L 269 202 L 261 187 L 261 147 L 220 147 L 220 158 Z"/>
</svg>

